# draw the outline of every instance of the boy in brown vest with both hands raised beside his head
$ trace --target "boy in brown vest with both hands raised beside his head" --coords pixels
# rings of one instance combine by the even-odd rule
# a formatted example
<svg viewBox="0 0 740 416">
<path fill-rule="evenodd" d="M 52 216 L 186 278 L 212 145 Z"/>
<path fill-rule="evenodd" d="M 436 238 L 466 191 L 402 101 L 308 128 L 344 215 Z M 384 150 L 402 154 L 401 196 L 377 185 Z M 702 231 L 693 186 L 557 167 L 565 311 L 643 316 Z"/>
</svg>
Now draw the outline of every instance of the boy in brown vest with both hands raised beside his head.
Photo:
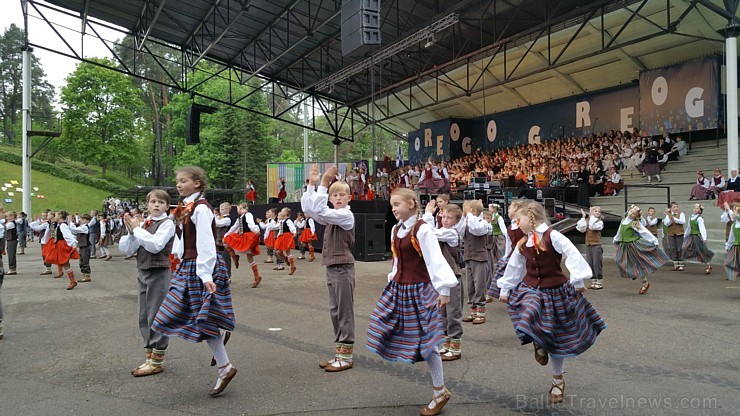
<svg viewBox="0 0 740 416">
<path fill-rule="evenodd" d="M 311 166 L 309 186 L 301 197 L 301 207 L 307 216 L 324 229 L 323 261 L 326 266 L 326 286 L 329 289 L 329 315 L 334 326 L 334 342 L 337 343 L 334 358 L 319 363 L 327 372 L 338 372 L 352 368 L 355 343 L 355 216 L 349 207 L 350 189 L 346 182 L 334 182 L 336 166 L 329 168 L 323 176 L 319 165 Z M 321 178 L 321 185 L 314 185 Z M 328 190 L 327 190 L 328 188 Z M 326 203 L 331 201 L 334 209 Z"/>
</svg>

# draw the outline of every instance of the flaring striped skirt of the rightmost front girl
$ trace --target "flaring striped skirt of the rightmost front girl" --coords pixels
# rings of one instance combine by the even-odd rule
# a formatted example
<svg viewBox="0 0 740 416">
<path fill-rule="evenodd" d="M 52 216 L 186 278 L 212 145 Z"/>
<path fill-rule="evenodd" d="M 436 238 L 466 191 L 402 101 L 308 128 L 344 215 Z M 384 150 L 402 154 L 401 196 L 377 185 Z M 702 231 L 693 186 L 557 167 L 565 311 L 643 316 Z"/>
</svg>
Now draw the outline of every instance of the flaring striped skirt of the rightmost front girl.
<svg viewBox="0 0 740 416">
<path fill-rule="evenodd" d="M 522 344 L 536 342 L 554 357 L 589 349 L 606 322 L 570 283 L 538 289 L 519 283 L 509 294 L 509 317 Z"/>
</svg>

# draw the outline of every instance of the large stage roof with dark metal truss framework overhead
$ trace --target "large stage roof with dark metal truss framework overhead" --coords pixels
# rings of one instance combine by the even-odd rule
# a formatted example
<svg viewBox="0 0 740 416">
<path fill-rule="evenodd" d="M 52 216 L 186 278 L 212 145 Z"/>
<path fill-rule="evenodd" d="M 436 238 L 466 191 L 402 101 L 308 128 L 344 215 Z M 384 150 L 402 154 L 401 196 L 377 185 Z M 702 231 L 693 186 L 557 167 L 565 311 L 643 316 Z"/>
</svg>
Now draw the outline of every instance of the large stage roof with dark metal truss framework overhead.
<svg viewBox="0 0 740 416">
<path fill-rule="evenodd" d="M 81 19 L 79 50 L 72 46 L 77 39 L 55 30 L 63 55 L 86 60 L 84 41 L 91 37 L 114 50 L 95 31 L 111 27 L 133 35 L 136 51 L 167 68 L 165 81 L 150 81 L 300 126 L 303 121 L 286 116 L 307 102 L 312 117 L 304 127 L 344 140 L 373 123 L 402 137 L 421 122 L 630 84 L 642 70 L 721 53 L 717 30 L 738 23 L 737 0 L 383 0 L 384 46 L 342 56 L 341 0 L 28 2 L 43 20 L 41 9 Z M 393 50 L 453 15 L 455 22 L 433 37 Z M 42 43 L 31 46 L 55 49 Z M 166 56 L 151 53 L 162 48 Z M 146 77 L 136 61 L 123 65 L 114 58 L 114 69 Z M 202 90 L 202 74 L 194 76 L 206 67 L 205 78 L 253 89 L 212 100 Z M 269 111 L 244 105 L 257 91 L 269 97 Z M 507 99 L 491 99 L 500 94 Z M 318 116 L 327 125 L 317 126 Z"/>
</svg>

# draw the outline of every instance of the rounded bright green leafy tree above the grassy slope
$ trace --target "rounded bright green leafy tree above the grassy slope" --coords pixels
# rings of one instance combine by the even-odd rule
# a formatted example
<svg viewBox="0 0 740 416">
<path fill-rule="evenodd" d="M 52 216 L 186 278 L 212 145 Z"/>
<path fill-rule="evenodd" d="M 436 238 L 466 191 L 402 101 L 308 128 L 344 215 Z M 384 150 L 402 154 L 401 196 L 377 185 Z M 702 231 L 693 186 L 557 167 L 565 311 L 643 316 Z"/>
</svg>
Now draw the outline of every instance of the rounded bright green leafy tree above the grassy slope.
<svg viewBox="0 0 740 416">
<path fill-rule="evenodd" d="M 130 77 L 103 68 L 114 63 L 92 58 L 82 62 L 62 87 L 63 134 L 58 143 L 87 163 L 109 167 L 141 167 L 147 130 L 141 117 L 143 102 Z M 148 141 L 151 143 L 151 141 Z"/>
</svg>

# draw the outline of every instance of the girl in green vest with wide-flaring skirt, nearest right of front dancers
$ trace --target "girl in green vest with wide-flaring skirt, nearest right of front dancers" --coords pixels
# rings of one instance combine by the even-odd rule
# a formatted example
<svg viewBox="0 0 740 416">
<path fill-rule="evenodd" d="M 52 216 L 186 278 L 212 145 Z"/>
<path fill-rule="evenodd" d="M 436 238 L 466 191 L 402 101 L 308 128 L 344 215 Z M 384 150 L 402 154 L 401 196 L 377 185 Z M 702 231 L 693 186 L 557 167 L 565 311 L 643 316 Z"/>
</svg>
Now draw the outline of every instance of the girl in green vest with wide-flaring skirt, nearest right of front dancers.
<svg viewBox="0 0 740 416">
<path fill-rule="evenodd" d="M 632 205 L 627 211 L 627 216 L 619 223 L 613 241 L 617 245 L 614 260 L 619 274 L 632 280 L 642 278 L 639 293 L 644 295 L 650 289 L 647 277 L 666 264 L 670 258 L 658 247 L 658 238 L 642 226 L 641 216 L 640 207 Z"/>
</svg>

